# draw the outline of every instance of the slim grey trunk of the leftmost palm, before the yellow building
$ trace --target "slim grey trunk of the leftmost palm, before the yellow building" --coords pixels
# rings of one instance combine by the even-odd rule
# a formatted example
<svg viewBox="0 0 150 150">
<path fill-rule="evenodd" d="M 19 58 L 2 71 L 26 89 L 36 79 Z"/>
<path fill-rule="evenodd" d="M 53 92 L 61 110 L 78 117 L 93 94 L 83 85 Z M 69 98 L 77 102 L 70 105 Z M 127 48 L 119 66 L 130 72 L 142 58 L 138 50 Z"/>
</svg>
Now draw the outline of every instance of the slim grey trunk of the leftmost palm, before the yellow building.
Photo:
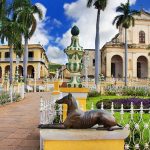
<svg viewBox="0 0 150 150">
<path fill-rule="evenodd" d="M 13 80 L 13 46 L 10 45 L 9 47 L 9 53 L 10 53 L 10 72 L 9 72 L 9 80 L 10 80 L 10 84 L 12 84 L 12 80 Z"/>
</svg>

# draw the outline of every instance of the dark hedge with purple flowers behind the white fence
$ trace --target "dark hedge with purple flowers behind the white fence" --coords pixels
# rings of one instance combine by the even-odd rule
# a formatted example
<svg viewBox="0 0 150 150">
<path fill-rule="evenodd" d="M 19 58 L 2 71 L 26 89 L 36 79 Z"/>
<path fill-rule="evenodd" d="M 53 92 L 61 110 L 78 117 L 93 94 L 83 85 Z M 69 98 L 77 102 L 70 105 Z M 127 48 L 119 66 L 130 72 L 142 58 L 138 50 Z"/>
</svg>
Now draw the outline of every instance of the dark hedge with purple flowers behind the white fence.
<svg viewBox="0 0 150 150">
<path fill-rule="evenodd" d="M 120 109 L 121 108 L 121 104 L 124 105 L 124 109 L 130 109 L 131 108 L 131 102 L 134 105 L 135 109 L 139 109 L 141 102 L 143 103 L 143 107 L 145 109 L 149 109 L 150 108 L 150 99 L 141 99 L 141 98 L 127 98 L 127 99 L 114 99 L 114 100 L 103 100 L 103 101 L 98 101 L 96 104 L 96 107 L 98 109 L 101 108 L 101 103 L 103 102 L 104 104 L 104 108 L 105 109 L 110 109 L 111 108 L 111 104 L 113 102 L 114 104 L 114 108 L 115 109 Z"/>
</svg>

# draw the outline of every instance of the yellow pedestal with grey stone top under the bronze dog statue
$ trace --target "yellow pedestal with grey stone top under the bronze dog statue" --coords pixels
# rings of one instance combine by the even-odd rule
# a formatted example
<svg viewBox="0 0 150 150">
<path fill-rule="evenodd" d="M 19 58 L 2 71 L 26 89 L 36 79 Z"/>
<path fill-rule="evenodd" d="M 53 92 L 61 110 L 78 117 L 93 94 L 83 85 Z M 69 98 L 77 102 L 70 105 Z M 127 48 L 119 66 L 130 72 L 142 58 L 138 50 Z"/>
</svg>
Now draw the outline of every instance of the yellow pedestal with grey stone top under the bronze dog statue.
<svg viewBox="0 0 150 150">
<path fill-rule="evenodd" d="M 41 129 L 41 150 L 124 150 L 127 129 L 97 131 L 96 129 Z"/>
</svg>

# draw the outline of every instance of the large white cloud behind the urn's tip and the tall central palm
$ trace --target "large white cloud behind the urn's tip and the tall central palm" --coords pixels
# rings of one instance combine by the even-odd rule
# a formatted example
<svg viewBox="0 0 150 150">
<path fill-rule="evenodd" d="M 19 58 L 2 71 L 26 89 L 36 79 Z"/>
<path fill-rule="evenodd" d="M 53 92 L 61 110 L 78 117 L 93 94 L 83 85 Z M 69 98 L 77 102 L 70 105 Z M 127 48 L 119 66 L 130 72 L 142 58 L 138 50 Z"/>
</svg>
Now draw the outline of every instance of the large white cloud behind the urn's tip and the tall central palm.
<svg viewBox="0 0 150 150">
<path fill-rule="evenodd" d="M 104 12 L 101 12 L 100 20 L 100 42 L 101 46 L 109 41 L 118 31 L 112 25 L 114 17 L 117 15 L 115 9 L 124 0 L 108 0 L 108 6 Z M 134 4 L 136 0 L 130 0 Z M 95 32 L 96 32 L 96 16 L 97 11 L 93 8 L 86 7 L 87 0 L 77 0 L 76 2 L 66 3 L 64 5 L 65 14 L 68 18 L 74 20 L 73 25 L 76 24 L 80 29 L 80 44 L 84 48 L 94 48 Z M 70 29 L 63 34 L 58 42 L 66 47 L 70 44 Z"/>
</svg>

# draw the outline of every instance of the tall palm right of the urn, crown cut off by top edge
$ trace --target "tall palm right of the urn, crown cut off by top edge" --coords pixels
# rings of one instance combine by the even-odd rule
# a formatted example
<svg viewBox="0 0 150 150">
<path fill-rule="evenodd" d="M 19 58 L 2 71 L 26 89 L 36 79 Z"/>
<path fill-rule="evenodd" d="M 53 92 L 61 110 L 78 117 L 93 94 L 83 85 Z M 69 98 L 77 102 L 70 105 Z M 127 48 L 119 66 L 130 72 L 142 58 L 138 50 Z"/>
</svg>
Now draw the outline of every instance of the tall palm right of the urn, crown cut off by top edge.
<svg viewBox="0 0 150 150">
<path fill-rule="evenodd" d="M 97 9 L 97 21 L 96 21 L 96 37 L 95 37 L 95 84 L 98 88 L 99 74 L 101 73 L 101 53 L 100 53 L 100 13 L 104 11 L 107 6 L 107 0 L 88 0 L 87 7 L 94 6 Z M 97 89 L 98 90 L 98 89 Z"/>
</svg>

